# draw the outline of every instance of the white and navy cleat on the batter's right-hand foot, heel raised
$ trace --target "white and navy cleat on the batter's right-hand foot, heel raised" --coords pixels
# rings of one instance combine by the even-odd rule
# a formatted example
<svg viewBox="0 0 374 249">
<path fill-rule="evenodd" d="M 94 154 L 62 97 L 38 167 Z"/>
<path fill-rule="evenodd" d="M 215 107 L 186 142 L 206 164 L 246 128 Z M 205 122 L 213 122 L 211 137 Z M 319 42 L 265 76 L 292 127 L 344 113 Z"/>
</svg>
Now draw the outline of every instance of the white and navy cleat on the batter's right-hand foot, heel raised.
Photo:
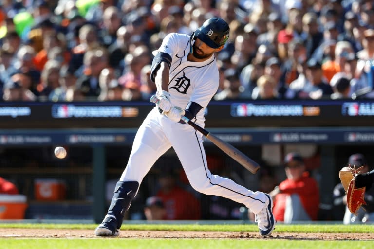
<svg viewBox="0 0 374 249">
<path fill-rule="evenodd" d="M 264 205 L 263 209 L 255 216 L 255 221 L 257 222 L 257 226 L 259 227 L 261 236 L 269 236 L 273 232 L 276 223 L 272 212 L 273 200 L 268 194 L 265 195 L 266 204 Z"/>
</svg>

